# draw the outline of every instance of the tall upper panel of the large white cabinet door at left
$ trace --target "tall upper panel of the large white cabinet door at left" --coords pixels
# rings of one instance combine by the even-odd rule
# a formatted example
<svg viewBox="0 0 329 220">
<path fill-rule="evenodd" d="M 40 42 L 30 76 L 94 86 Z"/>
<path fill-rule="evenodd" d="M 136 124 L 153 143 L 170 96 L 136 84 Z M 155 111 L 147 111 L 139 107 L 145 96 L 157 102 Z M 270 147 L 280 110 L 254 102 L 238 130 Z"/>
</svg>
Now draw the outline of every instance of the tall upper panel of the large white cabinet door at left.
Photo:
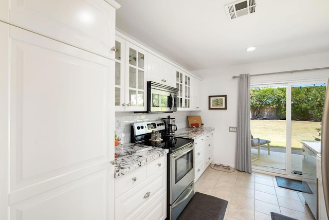
<svg viewBox="0 0 329 220">
<path fill-rule="evenodd" d="M 114 61 L 9 30 L 10 205 L 100 170 L 114 173 Z M 106 178 L 113 189 L 114 176 Z"/>
</svg>

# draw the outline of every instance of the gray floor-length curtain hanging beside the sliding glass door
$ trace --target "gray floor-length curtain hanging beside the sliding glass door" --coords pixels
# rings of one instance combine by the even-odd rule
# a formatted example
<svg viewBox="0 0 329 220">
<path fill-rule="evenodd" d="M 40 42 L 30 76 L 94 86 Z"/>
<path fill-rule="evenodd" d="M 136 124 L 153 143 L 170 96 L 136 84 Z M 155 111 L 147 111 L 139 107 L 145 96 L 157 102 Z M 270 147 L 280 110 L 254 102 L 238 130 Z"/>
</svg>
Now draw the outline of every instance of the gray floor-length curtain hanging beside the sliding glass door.
<svg viewBox="0 0 329 220">
<path fill-rule="evenodd" d="M 235 169 L 251 173 L 249 74 L 241 74 L 239 77 L 238 101 Z"/>
</svg>

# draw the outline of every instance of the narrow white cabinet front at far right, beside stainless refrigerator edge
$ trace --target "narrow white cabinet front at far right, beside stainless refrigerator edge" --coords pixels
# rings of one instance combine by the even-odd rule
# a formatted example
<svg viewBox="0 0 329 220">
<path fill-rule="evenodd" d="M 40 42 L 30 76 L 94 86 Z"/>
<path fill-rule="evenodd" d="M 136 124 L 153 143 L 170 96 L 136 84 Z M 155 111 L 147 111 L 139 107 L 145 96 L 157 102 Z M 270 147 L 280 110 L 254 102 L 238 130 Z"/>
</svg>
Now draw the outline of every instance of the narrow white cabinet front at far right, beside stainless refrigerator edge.
<svg viewBox="0 0 329 220">
<path fill-rule="evenodd" d="M 322 183 L 322 171 L 321 171 L 321 156 L 317 155 L 317 178 L 318 178 L 318 219 L 327 220 L 327 211 L 325 208 L 323 183 Z"/>
</svg>

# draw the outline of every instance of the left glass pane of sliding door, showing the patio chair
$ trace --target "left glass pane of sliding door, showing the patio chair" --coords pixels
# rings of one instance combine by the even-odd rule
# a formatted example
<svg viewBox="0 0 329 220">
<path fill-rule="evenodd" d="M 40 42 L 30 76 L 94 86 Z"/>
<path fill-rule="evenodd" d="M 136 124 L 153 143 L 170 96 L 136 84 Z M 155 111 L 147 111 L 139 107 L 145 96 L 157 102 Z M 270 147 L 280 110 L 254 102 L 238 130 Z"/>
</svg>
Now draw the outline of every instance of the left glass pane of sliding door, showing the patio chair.
<svg viewBox="0 0 329 220">
<path fill-rule="evenodd" d="M 250 89 L 252 165 L 286 170 L 286 84 Z"/>
</svg>

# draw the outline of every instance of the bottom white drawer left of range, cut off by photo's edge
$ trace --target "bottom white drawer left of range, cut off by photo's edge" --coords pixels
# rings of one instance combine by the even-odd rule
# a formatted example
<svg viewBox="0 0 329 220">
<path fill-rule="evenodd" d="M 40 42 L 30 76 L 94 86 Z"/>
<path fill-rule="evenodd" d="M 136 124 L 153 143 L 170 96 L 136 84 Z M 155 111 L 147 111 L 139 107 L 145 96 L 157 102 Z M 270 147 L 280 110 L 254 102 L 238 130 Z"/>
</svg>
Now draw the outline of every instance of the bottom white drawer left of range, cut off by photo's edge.
<svg viewBox="0 0 329 220">
<path fill-rule="evenodd" d="M 167 217 L 167 192 L 163 193 L 147 210 L 139 215 L 136 220 L 166 219 Z"/>
</svg>

